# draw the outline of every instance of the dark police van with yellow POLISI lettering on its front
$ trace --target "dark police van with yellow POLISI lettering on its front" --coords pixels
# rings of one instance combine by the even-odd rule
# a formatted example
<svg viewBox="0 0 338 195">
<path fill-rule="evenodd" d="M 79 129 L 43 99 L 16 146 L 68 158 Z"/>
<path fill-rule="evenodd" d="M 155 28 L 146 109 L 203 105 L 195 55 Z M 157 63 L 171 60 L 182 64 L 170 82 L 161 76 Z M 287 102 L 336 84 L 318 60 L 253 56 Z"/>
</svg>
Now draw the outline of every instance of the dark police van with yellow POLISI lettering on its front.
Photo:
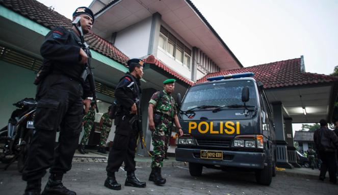
<svg viewBox="0 0 338 195">
<path fill-rule="evenodd" d="M 275 130 L 261 82 L 252 72 L 208 78 L 188 89 L 178 118 L 177 161 L 192 176 L 203 167 L 254 172 L 259 184 L 275 176 Z"/>
</svg>

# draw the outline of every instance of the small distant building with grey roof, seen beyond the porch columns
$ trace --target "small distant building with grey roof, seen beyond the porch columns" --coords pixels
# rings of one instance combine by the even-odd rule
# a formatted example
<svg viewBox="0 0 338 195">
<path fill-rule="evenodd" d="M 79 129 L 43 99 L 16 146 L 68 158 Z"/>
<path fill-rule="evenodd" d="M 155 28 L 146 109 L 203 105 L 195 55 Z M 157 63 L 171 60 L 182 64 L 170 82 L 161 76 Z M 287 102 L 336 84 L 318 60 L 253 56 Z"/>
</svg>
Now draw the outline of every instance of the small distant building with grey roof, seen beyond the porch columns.
<svg viewBox="0 0 338 195">
<path fill-rule="evenodd" d="M 298 142 L 298 151 L 307 151 L 309 147 L 315 149 L 314 131 L 295 131 L 294 141 Z"/>
</svg>

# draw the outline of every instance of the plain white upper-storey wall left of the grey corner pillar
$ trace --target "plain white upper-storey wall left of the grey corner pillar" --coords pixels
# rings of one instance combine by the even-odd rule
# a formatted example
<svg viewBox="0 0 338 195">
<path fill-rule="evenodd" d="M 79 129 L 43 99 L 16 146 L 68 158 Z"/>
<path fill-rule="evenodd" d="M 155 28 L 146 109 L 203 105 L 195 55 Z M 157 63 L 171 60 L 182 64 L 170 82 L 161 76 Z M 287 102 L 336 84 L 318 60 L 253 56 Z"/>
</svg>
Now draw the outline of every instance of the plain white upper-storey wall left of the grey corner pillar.
<svg viewBox="0 0 338 195">
<path fill-rule="evenodd" d="M 148 55 L 151 17 L 148 17 L 116 34 L 114 45 L 129 58 Z"/>
</svg>

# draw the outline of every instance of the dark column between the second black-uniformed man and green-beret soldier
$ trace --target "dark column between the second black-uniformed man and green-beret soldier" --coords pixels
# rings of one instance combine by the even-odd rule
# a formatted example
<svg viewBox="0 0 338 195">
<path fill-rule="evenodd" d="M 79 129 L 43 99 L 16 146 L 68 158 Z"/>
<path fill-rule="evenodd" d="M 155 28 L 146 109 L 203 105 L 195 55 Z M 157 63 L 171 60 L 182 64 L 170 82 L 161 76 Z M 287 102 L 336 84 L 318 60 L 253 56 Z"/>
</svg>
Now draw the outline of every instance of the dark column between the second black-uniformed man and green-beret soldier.
<svg viewBox="0 0 338 195">
<path fill-rule="evenodd" d="M 156 89 L 148 88 L 148 89 L 142 89 L 142 98 L 141 98 L 141 109 L 142 109 L 142 129 L 143 129 L 143 137 L 145 140 L 145 143 L 147 145 L 147 150 L 150 149 L 151 144 L 151 132 L 148 130 L 148 105 L 149 100 L 154 92 L 156 92 Z M 141 148 L 141 143 L 138 143 L 137 148 L 137 154 L 141 154 L 143 156 L 148 156 L 148 152 L 145 148 Z"/>
</svg>

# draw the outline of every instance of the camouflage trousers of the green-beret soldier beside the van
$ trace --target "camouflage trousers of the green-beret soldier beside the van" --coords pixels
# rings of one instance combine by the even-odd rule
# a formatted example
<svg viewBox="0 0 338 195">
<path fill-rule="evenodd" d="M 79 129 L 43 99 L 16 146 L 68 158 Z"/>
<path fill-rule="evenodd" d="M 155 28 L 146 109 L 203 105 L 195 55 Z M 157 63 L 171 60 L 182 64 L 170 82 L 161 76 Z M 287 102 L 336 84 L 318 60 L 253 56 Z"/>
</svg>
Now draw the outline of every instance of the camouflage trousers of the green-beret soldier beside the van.
<svg viewBox="0 0 338 195">
<path fill-rule="evenodd" d="M 155 130 L 152 131 L 153 155 L 151 159 L 151 167 L 163 166 L 165 149 L 168 148 L 168 142 L 166 142 L 168 133 L 168 125 L 165 125 L 164 123 L 159 124 Z"/>
</svg>

